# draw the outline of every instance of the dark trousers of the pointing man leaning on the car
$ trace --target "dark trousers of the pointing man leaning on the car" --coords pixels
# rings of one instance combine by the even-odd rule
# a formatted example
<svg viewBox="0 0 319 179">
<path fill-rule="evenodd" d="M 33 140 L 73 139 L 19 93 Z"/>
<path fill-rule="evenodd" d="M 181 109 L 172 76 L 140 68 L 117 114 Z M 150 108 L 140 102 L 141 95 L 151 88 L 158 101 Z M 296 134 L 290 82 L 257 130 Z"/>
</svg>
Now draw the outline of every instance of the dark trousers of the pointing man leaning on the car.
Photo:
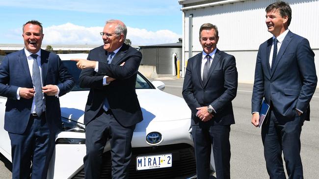
<svg viewBox="0 0 319 179">
<path fill-rule="evenodd" d="M 102 154 L 110 141 L 112 179 L 128 179 L 131 161 L 131 141 L 135 125 L 124 127 L 117 122 L 110 110 L 103 109 L 85 127 L 86 156 L 84 157 L 85 179 L 100 179 Z"/>
</svg>

